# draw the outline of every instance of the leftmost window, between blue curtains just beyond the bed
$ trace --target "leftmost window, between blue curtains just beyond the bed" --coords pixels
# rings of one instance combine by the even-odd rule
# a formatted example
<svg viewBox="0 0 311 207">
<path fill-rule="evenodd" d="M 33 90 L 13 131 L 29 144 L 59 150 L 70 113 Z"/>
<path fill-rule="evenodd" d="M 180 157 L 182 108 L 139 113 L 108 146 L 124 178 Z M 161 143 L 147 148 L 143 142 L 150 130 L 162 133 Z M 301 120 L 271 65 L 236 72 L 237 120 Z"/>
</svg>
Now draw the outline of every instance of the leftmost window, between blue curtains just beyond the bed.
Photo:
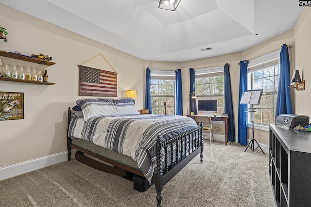
<svg viewBox="0 0 311 207">
<path fill-rule="evenodd" d="M 151 104 L 152 113 L 175 114 L 175 71 L 151 70 Z"/>
</svg>

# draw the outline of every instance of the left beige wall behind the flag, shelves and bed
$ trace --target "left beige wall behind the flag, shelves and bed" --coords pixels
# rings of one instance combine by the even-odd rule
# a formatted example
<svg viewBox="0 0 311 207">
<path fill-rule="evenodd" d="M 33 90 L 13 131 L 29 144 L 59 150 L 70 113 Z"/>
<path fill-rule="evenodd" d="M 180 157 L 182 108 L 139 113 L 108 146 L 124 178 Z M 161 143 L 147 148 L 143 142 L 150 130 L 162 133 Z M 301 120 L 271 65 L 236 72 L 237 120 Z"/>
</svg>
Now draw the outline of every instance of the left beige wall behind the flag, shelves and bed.
<svg viewBox="0 0 311 207">
<path fill-rule="evenodd" d="M 118 73 L 118 97 L 124 97 L 128 89 L 136 89 L 137 108 L 143 108 L 143 60 L 1 4 L 0 11 L 1 26 L 9 33 L 8 42 L 0 42 L 1 50 L 17 50 L 25 55 L 44 53 L 56 63 L 41 67 L 48 70 L 49 81 L 55 85 L 0 82 L 0 91 L 23 92 L 25 97 L 24 119 L 0 121 L 0 167 L 67 150 L 66 110 L 77 99 L 86 97 L 78 96 L 78 65 L 98 54 L 103 54 Z M 40 66 L 0 58 L 3 64 Z M 97 62 L 101 67 L 101 60 Z"/>
</svg>

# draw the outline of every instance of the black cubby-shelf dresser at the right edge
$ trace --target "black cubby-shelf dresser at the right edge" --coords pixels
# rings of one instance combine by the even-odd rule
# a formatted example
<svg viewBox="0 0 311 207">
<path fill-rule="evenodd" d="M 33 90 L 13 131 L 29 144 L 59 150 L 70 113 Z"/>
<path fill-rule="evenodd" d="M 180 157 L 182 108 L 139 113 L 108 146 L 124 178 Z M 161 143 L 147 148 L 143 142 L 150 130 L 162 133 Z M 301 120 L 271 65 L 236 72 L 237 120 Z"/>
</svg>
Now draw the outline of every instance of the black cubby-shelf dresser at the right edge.
<svg viewBox="0 0 311 207">
<path fill-rule="evenodd" d="M 276 206 L 311 206 L 311 132 L 271 124 L 269 138 Z"/>
</svg>

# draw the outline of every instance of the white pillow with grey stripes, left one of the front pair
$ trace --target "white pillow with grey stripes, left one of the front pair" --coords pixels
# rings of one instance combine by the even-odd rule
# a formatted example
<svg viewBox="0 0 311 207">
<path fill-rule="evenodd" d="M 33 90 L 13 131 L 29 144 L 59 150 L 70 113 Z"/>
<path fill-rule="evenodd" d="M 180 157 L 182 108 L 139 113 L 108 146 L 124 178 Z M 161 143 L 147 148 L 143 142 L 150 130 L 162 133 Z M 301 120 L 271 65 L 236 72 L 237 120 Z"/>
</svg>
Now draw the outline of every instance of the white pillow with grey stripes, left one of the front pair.
<svg viewBox="0 0 311 207">
<path fill-rule="evenodd" d="M 76 103 L 81 107 L 85 120 L 94 116 L 119 115 L 116 102 L 112 98 L 81 98 Z"/>
</svg>

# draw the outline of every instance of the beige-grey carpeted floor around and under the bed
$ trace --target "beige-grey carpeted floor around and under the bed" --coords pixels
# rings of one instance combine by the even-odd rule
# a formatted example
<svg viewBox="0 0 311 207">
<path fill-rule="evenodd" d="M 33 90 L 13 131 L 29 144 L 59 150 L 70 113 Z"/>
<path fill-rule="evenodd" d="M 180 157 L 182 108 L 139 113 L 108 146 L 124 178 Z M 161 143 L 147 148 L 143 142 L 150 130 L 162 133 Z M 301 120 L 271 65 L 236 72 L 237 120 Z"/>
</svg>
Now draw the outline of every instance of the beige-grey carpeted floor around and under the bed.
<svg viewBox="0 0 311 207">
<path fill-rule="evenodd" d="M 162 191 L 163 207 L 275 207 L 269 156 L 236 143 L 204 146 Z M 133 182 L 73 159 L 0 181 L 0 207 L 155 207 L 153 185 Z"/>
</svg>

